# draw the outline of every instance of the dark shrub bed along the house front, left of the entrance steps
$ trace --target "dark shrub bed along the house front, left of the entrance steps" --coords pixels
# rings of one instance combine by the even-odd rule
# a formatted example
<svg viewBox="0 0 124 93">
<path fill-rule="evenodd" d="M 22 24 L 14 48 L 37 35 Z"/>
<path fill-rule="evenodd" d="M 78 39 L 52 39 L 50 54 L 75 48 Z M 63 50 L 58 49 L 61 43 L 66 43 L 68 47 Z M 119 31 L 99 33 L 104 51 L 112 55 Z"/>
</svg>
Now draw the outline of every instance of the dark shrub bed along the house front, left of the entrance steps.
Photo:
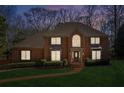
<svg viewBox="0 0 124 93">
<path fill-rule="evenodd" d="M 14 62 L 14 63 L 7 63 L 0 65 L 0 69 L 14 69 L 14 68 L 29 68 L 29 67 L 35 67 L 35 68 L 42 68 L 42 69 L 48 69 L 48 68 L 63 68 L 67 66 L 67 61 L 33 61 L 33 62 Z"/>
</svg>

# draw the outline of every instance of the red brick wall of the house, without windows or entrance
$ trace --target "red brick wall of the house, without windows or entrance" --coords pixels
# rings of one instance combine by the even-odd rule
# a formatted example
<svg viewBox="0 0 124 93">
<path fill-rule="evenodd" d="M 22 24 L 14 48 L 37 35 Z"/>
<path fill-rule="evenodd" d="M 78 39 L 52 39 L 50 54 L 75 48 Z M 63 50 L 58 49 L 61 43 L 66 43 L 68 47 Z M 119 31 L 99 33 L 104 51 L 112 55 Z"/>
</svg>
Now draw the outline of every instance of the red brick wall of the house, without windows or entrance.
<svg viewBox="0 0 124 93">
<path fill-rule="evenodd" d="M 31 60 L 40 60 L 47 59 L 51 60 L 51 44 L 50 37 L 44 37 L 44 48 L 14 48 L 10 59 L 12 61 L 20 61 L 21 59 L 21 50 L 30 50 L 31 51 Z M 88 57 L 91 58 L 91 44 L 90 37 L 81 37 L 81 46 L 83 48 L 82 59 L 86 61 Z M 100 45 L 102 46 L 102 58 L 109 58 L 109 42 L 107 37 L 101 37 Z M 61 59 L 68 59 L 71 61 L 70 49 L 72 47 L 72 35 L 70 37 L 62 37 L 62 46 L 61 46 Z"/>
</svg>

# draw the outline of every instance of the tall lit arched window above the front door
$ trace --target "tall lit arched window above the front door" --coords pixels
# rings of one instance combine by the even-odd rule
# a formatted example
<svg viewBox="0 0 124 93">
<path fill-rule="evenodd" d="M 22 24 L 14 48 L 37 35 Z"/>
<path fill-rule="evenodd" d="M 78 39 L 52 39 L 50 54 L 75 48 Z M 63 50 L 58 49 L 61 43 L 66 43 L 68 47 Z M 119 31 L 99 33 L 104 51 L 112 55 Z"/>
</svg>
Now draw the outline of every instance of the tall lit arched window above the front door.
<svg viewBox="0 0 124 93">
<path fill-rule="evenodd" d="M 72 47 L 81 47 L 81 38 L 79 35 L 72 37 Z"/>
</svg>

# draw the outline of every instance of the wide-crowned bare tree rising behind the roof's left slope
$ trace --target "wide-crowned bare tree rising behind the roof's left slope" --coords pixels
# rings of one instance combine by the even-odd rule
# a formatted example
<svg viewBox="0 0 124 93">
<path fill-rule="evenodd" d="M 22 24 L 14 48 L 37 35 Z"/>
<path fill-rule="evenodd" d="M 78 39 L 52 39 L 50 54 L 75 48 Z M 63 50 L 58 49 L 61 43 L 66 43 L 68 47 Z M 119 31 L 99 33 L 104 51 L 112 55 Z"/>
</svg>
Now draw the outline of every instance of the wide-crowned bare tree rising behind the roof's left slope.
<svg viewBox="0 0 124 93">
<path fill-rule="evenodd" d="M 24 15 L 26 17 L 27 23 L 34 29 L 34 31 L 50 29 L 57 20 L 56 11 L 39 7 L 30 9 L 30 11 L 24 13 Z"/>
</svg>

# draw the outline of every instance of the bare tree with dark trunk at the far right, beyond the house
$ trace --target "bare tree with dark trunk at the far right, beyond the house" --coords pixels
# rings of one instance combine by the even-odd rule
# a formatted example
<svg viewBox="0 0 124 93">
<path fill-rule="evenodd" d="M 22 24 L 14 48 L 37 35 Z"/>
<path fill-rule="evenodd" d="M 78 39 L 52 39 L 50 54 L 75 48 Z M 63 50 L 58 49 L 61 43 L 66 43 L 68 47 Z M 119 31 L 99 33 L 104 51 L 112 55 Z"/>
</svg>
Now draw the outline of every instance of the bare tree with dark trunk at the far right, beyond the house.
<svg viewBox="0 0 124 93">
<path fill-rule="evenodd" d="M 124 22 L 124 6 L 103 6 L 107 22 L 105 29 L 108 30 L 110 36 L 111 46 L 116 44 L 117 29 Z"/>
</svg>

